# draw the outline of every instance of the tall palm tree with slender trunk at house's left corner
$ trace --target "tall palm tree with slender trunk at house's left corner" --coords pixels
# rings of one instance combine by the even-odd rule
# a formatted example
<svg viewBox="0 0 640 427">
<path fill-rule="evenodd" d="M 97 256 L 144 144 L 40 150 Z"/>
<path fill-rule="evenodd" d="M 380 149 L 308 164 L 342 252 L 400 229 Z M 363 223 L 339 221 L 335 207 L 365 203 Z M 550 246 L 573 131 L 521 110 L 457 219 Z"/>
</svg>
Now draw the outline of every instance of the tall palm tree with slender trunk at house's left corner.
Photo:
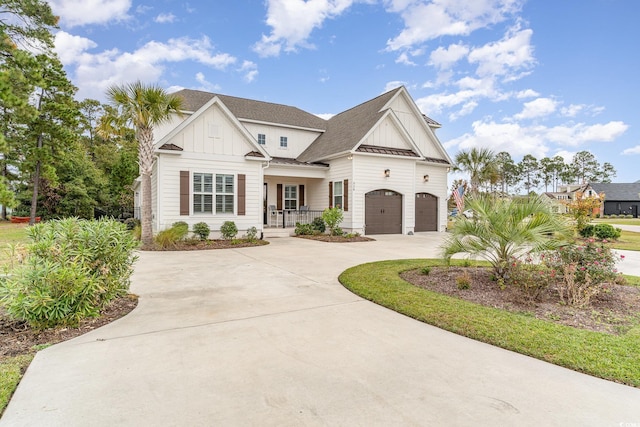
<svg viewBox="0 0 640 427">
<path fill-rule="evenodd" d="M 138 141 L 138 165 L 142 186 L 141 226 L 142 244 L 153 243 L 151 227 L 151 169 L 153 168 L 153 128 L 171 117 L 181 115 L 182 98 L 168 94 L 156 85 L 140 81 L 122 86 L 111 86 L 107 97 L 114 111 L 103 117 L 101 129 L 128 125 L 135 129 Z M 109 126 L 113 123 L 117 126 Z"/>
</svg>

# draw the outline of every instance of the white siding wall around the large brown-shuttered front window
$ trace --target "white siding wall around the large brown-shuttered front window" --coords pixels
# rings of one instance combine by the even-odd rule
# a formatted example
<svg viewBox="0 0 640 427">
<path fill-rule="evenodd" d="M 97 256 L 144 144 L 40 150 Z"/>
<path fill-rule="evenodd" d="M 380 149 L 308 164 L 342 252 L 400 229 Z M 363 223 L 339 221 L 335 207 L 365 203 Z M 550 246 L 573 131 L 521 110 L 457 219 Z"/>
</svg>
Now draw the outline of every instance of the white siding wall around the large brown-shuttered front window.
<svg viewBox="0 0 640 427">
<path fill-rule="evenodd" d="M 188 159 L 181 156 L 165 156 L 161 161 L 160 179 L 162 182 L 160 204 L 161 217 L 158 231 L 170 228 L 174 222 L 184 221 L 192 228 L 198 222 L 206 222 L 211 228 L 212 237 L 216 237 L 225 221 L 233 221 L 239 235 L 250 227 L 262 230 L 262 166 L 260 162 L 243 158 L 235 161 L 215 161 L 207 158 Z M 231 159 L 229 159 L 231 160 Z M 189 173 L 189 214 L 180 214 L 180 174 Z M 210 173 L 234 175 L 234 213 L 233 214 L 197 214 L 193 213 L 193 174 Z M 245 214 L 238 213 L 238 175 L 245 176 Z M 215 186 L 215 178 L 214 178 Z M 215 210 L 215 200 L 214 200 Z"/>
</svg>

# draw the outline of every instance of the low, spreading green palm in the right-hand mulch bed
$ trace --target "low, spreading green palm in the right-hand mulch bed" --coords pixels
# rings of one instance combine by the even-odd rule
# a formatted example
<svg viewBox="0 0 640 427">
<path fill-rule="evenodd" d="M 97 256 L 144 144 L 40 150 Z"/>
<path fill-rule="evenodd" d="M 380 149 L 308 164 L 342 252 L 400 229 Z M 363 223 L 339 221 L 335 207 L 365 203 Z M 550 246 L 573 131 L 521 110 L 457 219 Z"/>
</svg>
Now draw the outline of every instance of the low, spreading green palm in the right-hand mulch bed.
<svg viewBox="0 0 640 427">
<path fill-rule="evenodd" d="M 458 253 L 478 255 L 491 263 L 498 278 L 505 278 L 512 257 L 557 249 L 573 234 L 539 196 L 513 200 L 476 194 L 468 206 L 474 216 L 456 219 L 442 245 L 443 257 L 449 261 Z"/>
</svg>

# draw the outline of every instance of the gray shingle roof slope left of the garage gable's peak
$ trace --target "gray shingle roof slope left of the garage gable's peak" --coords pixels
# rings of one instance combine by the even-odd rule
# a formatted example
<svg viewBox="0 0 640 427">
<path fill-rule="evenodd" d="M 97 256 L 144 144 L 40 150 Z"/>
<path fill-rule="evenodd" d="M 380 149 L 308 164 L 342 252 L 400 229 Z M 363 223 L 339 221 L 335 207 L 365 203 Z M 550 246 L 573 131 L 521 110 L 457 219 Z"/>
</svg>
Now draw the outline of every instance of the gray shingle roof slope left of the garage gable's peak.
<svg viewBox="0 0 640 427">
<path fill-rule="evenodd" d="M 298 160 L 318 161 L 332 154 L 352 150 L 383 116 L 384 111 L 380 111 L 382 107 L 400 90 L 401 88 L 393 89 L 331 117 L 326 132 L 300 154 Z"/>
</svg>

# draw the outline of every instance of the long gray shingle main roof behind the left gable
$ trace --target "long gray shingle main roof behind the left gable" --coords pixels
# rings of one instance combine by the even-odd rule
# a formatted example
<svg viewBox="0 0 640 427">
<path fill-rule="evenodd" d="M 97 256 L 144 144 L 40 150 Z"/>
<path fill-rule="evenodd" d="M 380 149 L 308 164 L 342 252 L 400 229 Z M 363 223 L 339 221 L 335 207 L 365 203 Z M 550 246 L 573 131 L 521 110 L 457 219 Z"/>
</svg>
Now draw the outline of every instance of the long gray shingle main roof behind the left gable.
<svg viewBox="0 0 640 427">
<path fill-rule="evenodd" d="M 218 96 L 224 105 L 238 119 L 256 120 L 319 130 L 324 130 L 327 123 L 326 120 L 321 119 L 316 115 L 288 105 L 237 98 L 235 96 L 220 95 L 191 89 L 182 89 L 175 92 L 175 95 L 182 98 L 184 108 L 187 111 L 197 111 L 214 96 Z"/>
</svg>

